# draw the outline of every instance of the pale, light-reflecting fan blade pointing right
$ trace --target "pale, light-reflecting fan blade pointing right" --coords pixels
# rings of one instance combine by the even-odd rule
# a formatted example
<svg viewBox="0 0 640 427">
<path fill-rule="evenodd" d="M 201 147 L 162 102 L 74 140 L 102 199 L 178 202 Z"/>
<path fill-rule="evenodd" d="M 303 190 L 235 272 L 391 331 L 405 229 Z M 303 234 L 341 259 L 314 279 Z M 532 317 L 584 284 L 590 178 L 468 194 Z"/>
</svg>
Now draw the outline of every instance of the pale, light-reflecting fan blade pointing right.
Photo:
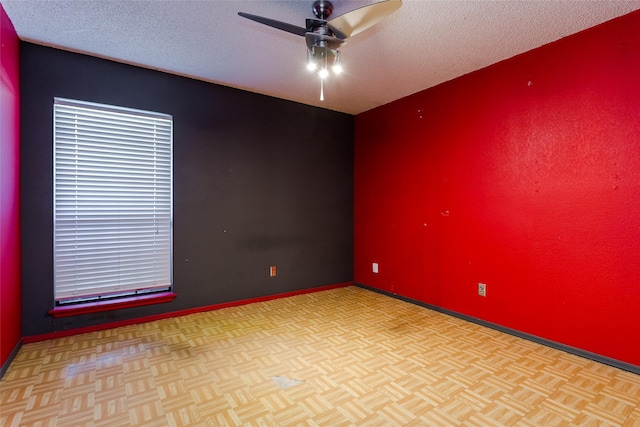
<svg viewBox="0 0 640 427">
<path fill-rule="evenodd" d="M 402 6 L 402 0 L 386 0 L 361 7 L 328 22 L 336 37 L 346 39 L 370 28 Z"/>
</svg>

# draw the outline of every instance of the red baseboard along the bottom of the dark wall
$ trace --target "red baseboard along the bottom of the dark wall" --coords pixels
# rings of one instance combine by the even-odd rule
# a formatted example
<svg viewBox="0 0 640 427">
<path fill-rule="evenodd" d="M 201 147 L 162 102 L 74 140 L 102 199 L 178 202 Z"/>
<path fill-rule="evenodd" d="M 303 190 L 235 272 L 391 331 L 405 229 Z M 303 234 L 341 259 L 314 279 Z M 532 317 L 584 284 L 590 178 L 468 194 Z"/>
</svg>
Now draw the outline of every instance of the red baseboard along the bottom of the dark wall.
<svg viewBox="0 0 640 427">
<path fill-rule="evenodd" d="M 120 326 L 136 325 L 138 323 L 152 322 L 154 320 L 168 319 L 171 317 L 185 316 L 187 314 L 202 313 L 204 311 L 219 310 L 221 308 L 236 307 L 240 305 L 253 304 L 256 302 L 270 301 L 278 298 L 287 298 L 295 295 L 310 294 L 314 292 L 327 291 L 330 289 L 344 288 L 352 286 L 353 282 L 337 283 L 334 285 L 320 286 L 317 288 L 302 289 L 299 291 L 284 292 L 281 294 L 267 295 L 263 297 L 249 298 L 238 301 L 224 302 L 220 304 L 207 305 L 202 307 L 194 307 L 185 310 L 172 311 L 168 313 L 156 314 L 153 316 L 138 317 L 135 319 L 120 320 L 117 322 L 103 323 L 101 325 L 87 326 L 84 328 L 74 328 L 65 331 L 49 332 L 46 334 L 30 335 L 22 338 L 24 344 L 46 341 L 54 338 L 63 338 L 72 335 L 86 334 L 89 332 L 103 331 L 105 329 L 118 328 Z"/>
</svg>

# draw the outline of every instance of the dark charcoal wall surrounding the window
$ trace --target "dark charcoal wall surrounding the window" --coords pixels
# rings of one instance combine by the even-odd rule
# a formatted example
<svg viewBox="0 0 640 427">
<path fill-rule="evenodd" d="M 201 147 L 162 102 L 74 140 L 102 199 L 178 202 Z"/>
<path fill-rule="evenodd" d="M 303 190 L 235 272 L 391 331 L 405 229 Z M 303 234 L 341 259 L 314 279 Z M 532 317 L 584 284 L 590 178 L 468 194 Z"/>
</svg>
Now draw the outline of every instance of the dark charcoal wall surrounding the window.
<svg viewBox="0 0 640 427">
<path fill-rule="evenodd" d="M 24 336 L 353 280 L 353 116 L 31 43 L 21 55 Z M 54 97 L 173 115 L 172 303 L 47 314 Z"/>
</svg>

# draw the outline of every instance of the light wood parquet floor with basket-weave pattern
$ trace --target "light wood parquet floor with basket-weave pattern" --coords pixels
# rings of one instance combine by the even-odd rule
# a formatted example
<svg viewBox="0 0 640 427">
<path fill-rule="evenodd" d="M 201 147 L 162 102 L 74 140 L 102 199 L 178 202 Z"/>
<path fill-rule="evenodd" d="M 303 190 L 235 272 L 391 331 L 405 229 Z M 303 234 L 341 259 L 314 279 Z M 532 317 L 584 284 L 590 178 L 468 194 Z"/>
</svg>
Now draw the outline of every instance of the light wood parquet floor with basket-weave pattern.
<svg viewBox="0 0 640 427">
<path fill-rule="evenodd" d="M 0 424 L 629 427 L 640 376 L 347 287 L 26 344 Z"/>
</svg>

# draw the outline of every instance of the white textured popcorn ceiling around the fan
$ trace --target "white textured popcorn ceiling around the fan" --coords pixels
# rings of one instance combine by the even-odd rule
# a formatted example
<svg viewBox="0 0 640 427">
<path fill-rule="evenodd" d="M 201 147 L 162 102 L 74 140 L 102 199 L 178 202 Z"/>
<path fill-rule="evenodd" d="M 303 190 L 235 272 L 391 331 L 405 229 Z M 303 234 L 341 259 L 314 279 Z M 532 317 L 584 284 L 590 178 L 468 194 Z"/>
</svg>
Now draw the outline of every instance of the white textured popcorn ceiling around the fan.
<svg viewBox="0 0 640 427">
<path fill-rule="evenodd" d="M 405 0 L 347 40 L 345 73 L 305 69 L 303 37 L 241 18 L 304 27 L 312 0 L 0 0 L 22 40 L 357 114 L 617 16 L 640 1 Z M 372 3 L 335 0 L 332 17 Z"/>
</svg>

